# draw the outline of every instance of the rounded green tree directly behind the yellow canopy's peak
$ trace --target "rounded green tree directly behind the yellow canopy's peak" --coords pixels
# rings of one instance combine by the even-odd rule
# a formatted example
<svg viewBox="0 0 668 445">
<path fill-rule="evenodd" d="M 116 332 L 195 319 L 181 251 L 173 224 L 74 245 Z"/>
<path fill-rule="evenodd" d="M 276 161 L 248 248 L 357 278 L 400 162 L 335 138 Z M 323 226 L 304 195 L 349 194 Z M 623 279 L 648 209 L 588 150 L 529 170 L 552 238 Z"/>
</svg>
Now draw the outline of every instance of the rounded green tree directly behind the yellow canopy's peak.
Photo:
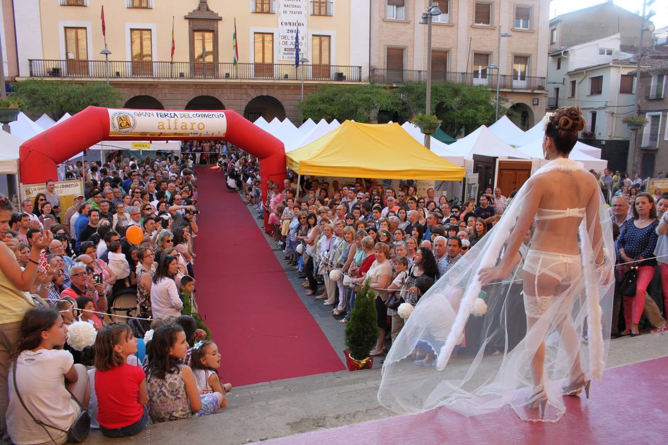
<svg viewBox="0 0 668 445">
<path fill-rule="evenodd" d="M 399 111 L 399 97 L 380 85 L 325 85 L 301 102 L 304 119 L 371 122 L 378 111 Z"/>
</svg>

